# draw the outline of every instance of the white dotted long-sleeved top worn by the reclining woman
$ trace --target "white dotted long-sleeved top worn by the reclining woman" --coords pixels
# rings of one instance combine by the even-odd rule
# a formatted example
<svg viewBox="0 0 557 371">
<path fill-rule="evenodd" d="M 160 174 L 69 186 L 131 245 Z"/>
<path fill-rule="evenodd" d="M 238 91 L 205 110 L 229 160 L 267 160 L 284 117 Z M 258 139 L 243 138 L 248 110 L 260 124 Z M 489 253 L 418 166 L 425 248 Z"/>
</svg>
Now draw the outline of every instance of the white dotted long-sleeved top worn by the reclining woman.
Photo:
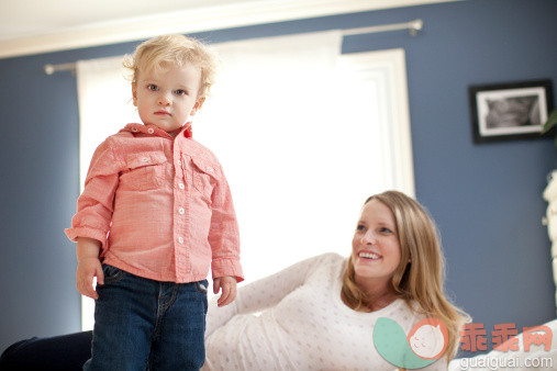
<svg viewBox="0 0 557 371">
<path fill-rule="evenodd" d="M 374 346 L 378 317 L 408 335 L 423 316 L 403 300 L 372 313 L 341 299 L 346 258 L 324 254 L 239 288 L 225 307 L 210 302 L 202 370 L 394 370 Z M 446 370 L 444 359 L 423 370 Z"/>
</svg>

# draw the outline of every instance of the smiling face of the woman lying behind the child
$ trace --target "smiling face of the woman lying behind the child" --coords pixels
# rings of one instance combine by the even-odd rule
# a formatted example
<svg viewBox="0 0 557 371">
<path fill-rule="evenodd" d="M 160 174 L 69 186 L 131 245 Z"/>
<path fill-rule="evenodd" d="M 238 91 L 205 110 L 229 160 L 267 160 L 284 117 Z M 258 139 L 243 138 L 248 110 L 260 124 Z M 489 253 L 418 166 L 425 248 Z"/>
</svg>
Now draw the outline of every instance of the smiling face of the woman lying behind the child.
<svg viewBox="0 0 557 371">
<path fill-rule="evenodd" d="M 401 250 L 391 210 L 378 200 L 366 203 L 352 240 L 358 284 L 388 284 L 399 267 Z"/>
</svg>

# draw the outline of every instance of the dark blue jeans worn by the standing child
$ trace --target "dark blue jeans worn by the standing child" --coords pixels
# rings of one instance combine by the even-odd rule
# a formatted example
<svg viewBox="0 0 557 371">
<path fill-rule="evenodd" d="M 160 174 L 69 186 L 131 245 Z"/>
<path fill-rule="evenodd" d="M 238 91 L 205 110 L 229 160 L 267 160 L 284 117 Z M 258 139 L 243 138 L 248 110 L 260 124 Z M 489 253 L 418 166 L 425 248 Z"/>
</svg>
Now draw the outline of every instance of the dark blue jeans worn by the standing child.
<svg viewBox="0 0 557 371">
<path fill-rule="evenodd" d="M 158 282 L 102 269 L 92 356 L 83 370 L 199 370 L 205 360 L 207 280 Z"/>
</svg>

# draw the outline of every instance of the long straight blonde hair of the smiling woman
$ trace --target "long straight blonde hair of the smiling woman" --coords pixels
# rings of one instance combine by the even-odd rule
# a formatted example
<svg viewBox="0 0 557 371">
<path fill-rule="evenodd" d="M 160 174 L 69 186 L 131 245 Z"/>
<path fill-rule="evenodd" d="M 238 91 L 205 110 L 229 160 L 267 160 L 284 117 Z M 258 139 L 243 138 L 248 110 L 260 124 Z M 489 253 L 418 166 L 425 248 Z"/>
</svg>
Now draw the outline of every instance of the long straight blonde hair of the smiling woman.
<svg viewBox="0 0 557 371">
<path fill-rule="evenodd" d="M 417 305 L 420 314 L 437 318 L 448 330 L 446 357 L 449 361 L 459 345 L 460 327 L 470 321 L 468 314 L 453 305 L 444 293 L 445 259 L 435 223 L 415 200 L 398 191 L 370 196 L 387 205 L 397 223 L 401 259 L 392 280 L 392 289 L 406 301 Z M 366 294 L 355 282 L 352 257 L 343 279 L 343 296 L 354 308 L 368 306 Z"/>
</svg>

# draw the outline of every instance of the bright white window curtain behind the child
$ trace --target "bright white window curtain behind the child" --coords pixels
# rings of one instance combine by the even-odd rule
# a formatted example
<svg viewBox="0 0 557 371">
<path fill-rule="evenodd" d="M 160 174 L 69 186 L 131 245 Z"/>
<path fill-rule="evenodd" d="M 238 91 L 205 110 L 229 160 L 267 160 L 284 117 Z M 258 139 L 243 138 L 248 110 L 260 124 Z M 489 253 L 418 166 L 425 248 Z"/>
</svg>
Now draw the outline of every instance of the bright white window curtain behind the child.
<svg viewBox="0 0 557 371">
<path fill-rule="evenodd" d="M 325 251 L 348 256 L 368 195 L 414 193 L 404 53 L 341 56 L 341 42 L 325 32 L 213 45 L 222 71 L 193 138 L 231 184 L 246 282 Z M 121 61 L 78 63 L 81 184 L 94 148 L 138 122 Z"/>
</svg>

